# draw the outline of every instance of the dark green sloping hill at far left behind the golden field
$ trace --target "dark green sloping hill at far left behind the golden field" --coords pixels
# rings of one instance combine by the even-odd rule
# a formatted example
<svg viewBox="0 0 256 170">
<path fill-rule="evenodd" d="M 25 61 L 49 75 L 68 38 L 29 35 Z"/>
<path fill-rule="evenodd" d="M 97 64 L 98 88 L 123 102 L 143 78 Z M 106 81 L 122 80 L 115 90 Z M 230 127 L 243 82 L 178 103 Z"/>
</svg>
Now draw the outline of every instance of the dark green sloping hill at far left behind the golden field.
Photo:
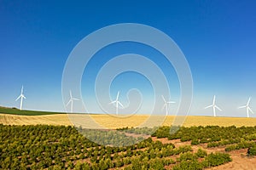
<svg viewBox="0 0 256 170">
<path fill-rule="evenodd" d="M 66 114 L 61 112 L 50 112 L 50 111 L 20 111 L 19 109 L 13 107 L 3 107 L 0 106 L 0 113 L 11 114 L 11 115 L 21 115 L 21 116 L 39 116 L 39 115 L 55 115 L 55 114 Z"/>
</svg>

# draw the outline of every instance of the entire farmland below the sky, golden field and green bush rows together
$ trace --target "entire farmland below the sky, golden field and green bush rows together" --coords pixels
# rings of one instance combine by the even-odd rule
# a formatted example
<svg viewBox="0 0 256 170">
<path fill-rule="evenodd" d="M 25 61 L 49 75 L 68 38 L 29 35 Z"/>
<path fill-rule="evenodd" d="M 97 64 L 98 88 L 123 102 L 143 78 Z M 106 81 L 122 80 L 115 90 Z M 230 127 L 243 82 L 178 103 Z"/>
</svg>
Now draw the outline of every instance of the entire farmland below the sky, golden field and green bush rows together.
<svg viewBox="0 0 256 170">
<path fill-rule="evenodd" d="M 102 131 L 73 127 L 67 114 L 23 113 L 0 114 L 0 169 L 256 167 L 255 118 L 188 116 L 183 127 L 170 133 L 174 116 L 167 116 L 155 131 L 156 127 L 137 127 L 146 115 L 90 115 L 113 129 Z"/>
</svg>

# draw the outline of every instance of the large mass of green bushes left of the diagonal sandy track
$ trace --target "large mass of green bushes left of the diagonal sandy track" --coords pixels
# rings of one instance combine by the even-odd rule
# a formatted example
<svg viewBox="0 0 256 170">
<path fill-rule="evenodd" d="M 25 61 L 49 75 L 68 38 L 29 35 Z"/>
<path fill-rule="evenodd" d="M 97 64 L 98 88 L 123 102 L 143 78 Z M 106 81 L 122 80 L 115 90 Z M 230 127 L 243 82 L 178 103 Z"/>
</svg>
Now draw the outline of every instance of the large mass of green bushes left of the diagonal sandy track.
<svg viewBox="0 0 256 170">
<path fill-rule="evenodd" d="M 162 129 L 166 127 L 160 127 Z M 101 139 L 104 135 L 104 139 L 115 138 L 120 144 L 127 139 L 123 136 L 126 130 L 119 130 L 122 135 L 115 137 L 113 131 L 79 129 L 81 133 L 87 132 L 89 138 Z M 139 129 L 133 130 L 139 132 Z M 149 128 L 143 128 L 141 132 L 147 130 Z M 178 169 L 189 162 L 193 162 L 191 166 L 199 163 L 202 167 L 214 167 L 230 161 L 229 155 L 207 155 L 205 150 L 193 153 L 190 145 L 176 148 L 174 144 L 162 144 L 151 138 L 125 147 L 100 145 L 84 138 L 79 131 L 70 126 L 0 124 L 0 169 L 164 169 L 171 164 Z"/>
</svg>

